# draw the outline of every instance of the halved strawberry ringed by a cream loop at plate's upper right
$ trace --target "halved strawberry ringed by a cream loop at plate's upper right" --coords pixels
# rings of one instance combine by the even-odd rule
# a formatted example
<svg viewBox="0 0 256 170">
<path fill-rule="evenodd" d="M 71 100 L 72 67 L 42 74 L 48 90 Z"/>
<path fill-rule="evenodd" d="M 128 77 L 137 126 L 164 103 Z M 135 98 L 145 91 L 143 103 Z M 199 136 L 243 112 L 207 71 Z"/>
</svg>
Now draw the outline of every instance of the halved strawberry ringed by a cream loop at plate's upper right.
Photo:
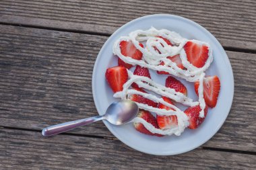
<svg viewBox="0 0 256 170">
<path fill-rule="evenodd" d="M 207 58 L 209 57 L 208 47 L 205 45 L 197 44 L 195 42 L 187 42 L 184 46 L 184 50 L 187 54 L 187 60 L 198 68 L 203 67 Z"/>
</svg>

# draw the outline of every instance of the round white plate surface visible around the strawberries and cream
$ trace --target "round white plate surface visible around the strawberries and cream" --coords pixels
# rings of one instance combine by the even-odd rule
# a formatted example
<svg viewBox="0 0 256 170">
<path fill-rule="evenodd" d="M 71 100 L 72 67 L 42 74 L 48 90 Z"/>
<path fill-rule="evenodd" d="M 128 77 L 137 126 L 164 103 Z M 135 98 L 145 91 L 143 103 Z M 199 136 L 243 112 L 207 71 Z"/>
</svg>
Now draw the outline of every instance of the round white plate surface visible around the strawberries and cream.
<svg viewBox="0 0 256 170">
<path fill-rule="evenodd" d="M 213 49 L 214 61 L 206 71 L 206 75 L 218 75 L 220 78 L 221 89 L 218 103 L 215 108 L 208 110 L 207 117 L 199 128 L 196 130 L 189 130 L 187 128 L 181 136 L 172 135 L 159 138 L 137 132 L 132 124 L 113 126 L 106 121 L 104 121 L 104 124 L 119 140 L 138 151 L 153 155 L 177 155 L 191 151 L 193 148 L 197 148 L 205 143 L 216 134 L 226 120 L 234 94 L 232 68 L 220 42 L 205 28 L 199 26 L 199 24 L 176 15 L 160 14 L 139 17 L 125 24 L 112 34 L 101 48 L 96 59 L 92 75 L 92 92 L 100 115 L 104 114 L 110 103 L 117 100 L 113 97 L 113 91 L 108 87 L 105 79 L 106 69 L 117 65 L 117 57 L 113 55 L 112 50 L 115 40 L 120 36 L 127 36 L 129 32 L 138 29 L 147 30 L 151 26 L 154 26 L 156 29 L 172 30 L 187 39 L 201 40 L 210 44 Z M 150 74 L 154 81 L 164 84 L 166 75 L 156 75 L 155 71 L 150 71 Z M 197 100 L 193 83 L 188 83 L 184 80 L 182 82 L 187 87 L 189 97 Z"/>
</svg>

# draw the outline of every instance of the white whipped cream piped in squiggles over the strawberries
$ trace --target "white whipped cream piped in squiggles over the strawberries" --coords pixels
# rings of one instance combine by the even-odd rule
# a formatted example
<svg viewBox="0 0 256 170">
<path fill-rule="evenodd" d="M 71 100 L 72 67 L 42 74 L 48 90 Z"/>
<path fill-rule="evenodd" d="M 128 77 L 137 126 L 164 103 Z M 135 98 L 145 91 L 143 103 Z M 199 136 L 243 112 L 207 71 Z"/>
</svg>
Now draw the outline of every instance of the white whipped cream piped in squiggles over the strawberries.
<svg viewBox="0 0 256 170">
<path fill-rule="evenodd" d="M 162 36 L 163 38 L 170 40 L 170 42 L 174 44 L 174 46 L 169 46 L 162 38 L 157 38 L 156 36 Z M 143 53 L 142 60 L 135 60 L 131 57 L 127 57 L 121 54 L 120 42 L 123 40 L 133 42 L 136 48 Z M 145 42 L 145 41 L 146 41 L 145 48 L 142 48 L 141 46 L 139 46 L 140 42 Z M 197 44 L 202 44 L 208 47 L 209 57 L 207 58 L 205 65 L 203 67 L 197 68 L 187 60 L 187 54 L 183 49 L 183 46 L 188 41 L 195 42 Z M 160 51 L 160 53 L 155 50 L 155 47 Z M 208 69 L 208 67 L 210 67 L 210 64 L 213 60 L 212 48 L 210 48 L 209 44 L 207 44 L 206 42 L 198 41 L 198 40 L 187 40 L 186 38 L 181 37 L 176 32 L 170 32 L 169 30 L 164 30 L 164 29 L 156 30 L 155 28 L 150 28 L 149 30 L 136 30 L 134 32 L 131 32 L 129 36 L 121 36 L 113 46 L 113 53 L 119 56 L 119 58 L 121 58 L 124 62 L 129 63 L 131 65 L 139 65 L 141 67 L 146 67 L 148 69 L 152 69 L 156 71 L 165 71 L 167 73 L 170 73 L 171 75 L 175 75 L 189 82 L 199 81 L 199 88 L 198 88 L 199 100 L 193 101 L 193 99 L 183 95 L 183 93 L 179 93 L 179 92 L 176 92 L 174 89 L 164 87 L 163 85 L 160 85 L 152 81 L 152 79 L 149 79 L 148 77 L 133 75 L 131 71 L 127 70 L 129 80 L 123 85 L 123 91 L 119 91 L 115 93 L 114 97 L 120 97 L 121 99 L 129 99 L 130 95 L 137 94 L 147 99 L 150 99 L 156 103 L 162 103 L 168 106 L 169 108 L 172 108 L 173 110 L 153 108 L 150 105 L 136 102 L 140 109 L 148 110 L 150 112 L 154 112 L 161 116 L 176 115 L 178 120 L 178 125 L 170 129 L 160 130 L 158 128 L 155 128 L 154 126 L 152 126 L 152 124 L 149 124 L 148 122 L 146 122 L 146 120 L 143 120 L 142 118 L 135 118 L 133 122 L 138 122 L 143 124 L 143 126 L 145 126 L 145 128 L 150 130 L 150 132 L 152 133 L 163 134 L 163 135 L 175 134 L 179 136 L 185 130 L 185 128 L 189 126 L 189 118 L 183 111 L 181 111 L 175 105 L 172 105 L 164 101 L 162 98 L 157 97 L 156 95 L 153 95 L 151 93 L 143 93 L 141 91 L 137 91 L 134 89 L 129 89 L 132 83 L 137 83 L 139 87 L 146 89 L 146 91 L 152 91 L 158 95 L 168 97 L 170 99 L 173 99 L 176 102 L 182 103 L 183 105 L 188 105 L 188 106 L 199 105 L 201 108 L 199 116 L 201 118 L 204 117 L 204 109 L 205 109 L 205 100 L 203 99 L 203 79 L 205 77 L 204 72 L 206 69 Z M 181 62 L 183 66 L 186 68 L 186 70 L 180 69 L 175 62 L 172 62 L 172 60 L 169 60 L 167 58 L 168 56 L 174 56 L 177 54 L 180 55 Z M 164 62 L 164 65 L 160 65 L 160 62 L 162 61 Z"/>
</svg>

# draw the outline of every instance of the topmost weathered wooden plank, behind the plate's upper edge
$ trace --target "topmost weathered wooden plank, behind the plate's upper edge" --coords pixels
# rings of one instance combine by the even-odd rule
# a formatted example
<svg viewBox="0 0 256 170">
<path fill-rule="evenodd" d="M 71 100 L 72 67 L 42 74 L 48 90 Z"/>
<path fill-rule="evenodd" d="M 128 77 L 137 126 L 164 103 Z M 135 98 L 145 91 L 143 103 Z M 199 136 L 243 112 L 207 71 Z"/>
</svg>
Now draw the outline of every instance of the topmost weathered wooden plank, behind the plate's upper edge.
<svg viewBox="0 0 256 170">
<path fill-rule="evenodd" d="M 123 24 L 155 13 L 192 19 L 223 46 L 256 50 L 256 1 L 7 1 L 0 21 L 9 24 L 112 34 Z"/>
</svg>

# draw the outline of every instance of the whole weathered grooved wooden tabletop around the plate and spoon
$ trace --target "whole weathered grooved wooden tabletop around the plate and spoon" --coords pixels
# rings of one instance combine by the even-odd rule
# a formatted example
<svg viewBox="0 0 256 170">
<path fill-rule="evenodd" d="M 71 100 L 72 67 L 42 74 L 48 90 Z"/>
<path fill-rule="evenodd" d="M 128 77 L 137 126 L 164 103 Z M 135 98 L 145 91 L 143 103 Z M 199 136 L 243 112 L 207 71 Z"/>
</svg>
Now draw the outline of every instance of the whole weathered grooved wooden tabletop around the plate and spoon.
<svg viewBox="0 0 256 170">
<path fill-rule="evenodd" d="M 92 69 L 107 38 L 154 13 L 192 19 L 218 38 L 234 72 L 219 132 L 158 157 L 129 148 L 102 122 L 51 138 L 42 128 L 96 116 Z M 256 1 L 0 1 L 0 169 L 256 169 Z"/>
</svg>

